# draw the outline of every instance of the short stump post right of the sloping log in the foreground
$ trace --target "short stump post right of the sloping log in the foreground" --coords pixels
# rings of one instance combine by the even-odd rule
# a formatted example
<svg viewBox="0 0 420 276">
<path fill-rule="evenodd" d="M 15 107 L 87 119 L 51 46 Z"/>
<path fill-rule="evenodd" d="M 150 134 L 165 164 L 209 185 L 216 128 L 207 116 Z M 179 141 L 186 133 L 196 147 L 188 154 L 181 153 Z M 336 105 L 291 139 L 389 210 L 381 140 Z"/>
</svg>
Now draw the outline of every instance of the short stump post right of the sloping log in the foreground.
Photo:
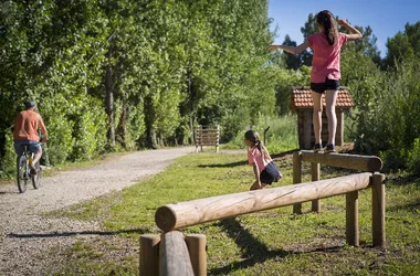
<svg viewBox="0 0 420 276">
<path fill-rule="evenodd" d="M 207 275 L 207 241 L 206 235 L 190 234 L 186 236 L 188 252 L 190 254 L 195 276 Z"/>
</svg>

